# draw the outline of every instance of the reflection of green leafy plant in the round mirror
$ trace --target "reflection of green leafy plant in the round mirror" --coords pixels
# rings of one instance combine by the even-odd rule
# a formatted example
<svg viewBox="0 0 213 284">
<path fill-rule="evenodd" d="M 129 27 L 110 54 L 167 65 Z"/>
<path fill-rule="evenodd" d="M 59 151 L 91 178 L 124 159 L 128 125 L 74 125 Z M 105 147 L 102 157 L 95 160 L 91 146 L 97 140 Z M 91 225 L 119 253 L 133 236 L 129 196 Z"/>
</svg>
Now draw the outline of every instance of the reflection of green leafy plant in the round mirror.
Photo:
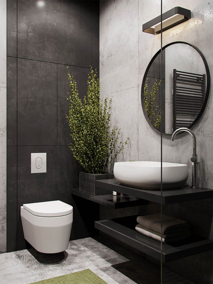
<svg viewBox="0 0 213 284">
<path fill-rule="evenodd" d="M 161 85 L 161 80 L 157 83 L 157 78 L 155 78 L 155 83 L 153 84 L 151 91 L 148 91 L 148 78 L 146 78 L 146 82 L 144 85 L 144 107 L 146 110 L 146 114 L 152 123 L 152 125 L 159 129 L 161 122 L 161 110 L 159 106 L 155 105 L 155 99 L 158 92 L 158 88 Z"/>
</svg>

